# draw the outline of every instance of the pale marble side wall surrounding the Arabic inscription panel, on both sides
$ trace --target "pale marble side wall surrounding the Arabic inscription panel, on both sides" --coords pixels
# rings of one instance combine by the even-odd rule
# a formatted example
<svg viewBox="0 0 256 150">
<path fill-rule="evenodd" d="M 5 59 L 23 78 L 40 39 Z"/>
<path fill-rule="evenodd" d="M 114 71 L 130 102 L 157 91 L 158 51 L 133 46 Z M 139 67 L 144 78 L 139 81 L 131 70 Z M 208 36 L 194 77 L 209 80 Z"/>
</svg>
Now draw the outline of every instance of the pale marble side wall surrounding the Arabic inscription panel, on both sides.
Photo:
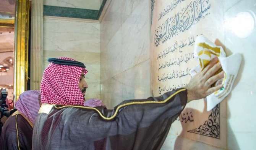
<svg viewBox="0 0 256 150">
<path fill-rule="evenodd" d="M 240 52 L 243 61 L 227 97 L 227 149 L 251 150 L 256 147 L 255 116 L 256 63 L 255 0 L 225 0 L 225 40 L 227 55 Z M 245 17 L 228 21 L 238 13 L 254 13 L 254 25 Z M 240 20 L 239 20 L 240 19 Z M 233 20 L 234 21 L 234 20 Z M 252 28 L 250 34 L 248 30 Z M 150 96 L 149 76 L 149 0 L 112 0 L 100 24 L 101 98 L 112 108 L 125 99 Z M 254 42 L 253 42 L 254 41 Z M 162 150 L 220 150 L 178 135 L 169 135 Z"/>
</svg>

